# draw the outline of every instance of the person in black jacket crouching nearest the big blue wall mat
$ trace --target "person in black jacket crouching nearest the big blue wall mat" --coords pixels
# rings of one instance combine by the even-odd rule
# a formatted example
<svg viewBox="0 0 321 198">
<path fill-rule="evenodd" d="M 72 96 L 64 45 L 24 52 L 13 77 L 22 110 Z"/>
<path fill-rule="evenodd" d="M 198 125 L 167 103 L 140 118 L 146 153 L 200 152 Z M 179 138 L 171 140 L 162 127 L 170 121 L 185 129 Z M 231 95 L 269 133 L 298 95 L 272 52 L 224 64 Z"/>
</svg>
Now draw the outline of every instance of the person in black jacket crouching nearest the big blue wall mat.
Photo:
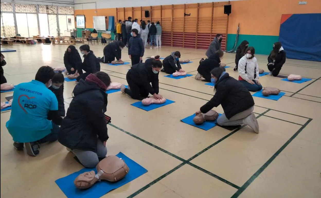
<svg viewBox="0 0 321 198">
<path fill-rule="evenodd" d="M 280 42 L 273 44 L 273 50 L 269 57 L 267 57 L 267 68 L 270 70 L 269 75 L 279 75 L 283 64 L 285 63 L 286 54 Z"/>
</svg>

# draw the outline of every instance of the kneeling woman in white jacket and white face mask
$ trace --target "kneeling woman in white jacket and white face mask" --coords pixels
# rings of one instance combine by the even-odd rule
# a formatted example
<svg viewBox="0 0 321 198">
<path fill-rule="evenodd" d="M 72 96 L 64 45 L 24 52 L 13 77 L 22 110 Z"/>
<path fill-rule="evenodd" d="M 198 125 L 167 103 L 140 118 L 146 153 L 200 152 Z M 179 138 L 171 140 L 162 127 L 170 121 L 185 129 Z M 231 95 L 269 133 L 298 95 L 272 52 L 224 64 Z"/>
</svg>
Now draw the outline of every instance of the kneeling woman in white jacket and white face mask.
<svg viewBox="0 0 321 198">
<path fill-rule="evenodd" d="M 247 47 L 245 51 L 246 54 L 239 60 L 239 81 L 245 85 L 247 90 L 259 91 L 262 85 L 259 82 L 259 67 L 254 56 L 254 47 Z"/>
</svg>

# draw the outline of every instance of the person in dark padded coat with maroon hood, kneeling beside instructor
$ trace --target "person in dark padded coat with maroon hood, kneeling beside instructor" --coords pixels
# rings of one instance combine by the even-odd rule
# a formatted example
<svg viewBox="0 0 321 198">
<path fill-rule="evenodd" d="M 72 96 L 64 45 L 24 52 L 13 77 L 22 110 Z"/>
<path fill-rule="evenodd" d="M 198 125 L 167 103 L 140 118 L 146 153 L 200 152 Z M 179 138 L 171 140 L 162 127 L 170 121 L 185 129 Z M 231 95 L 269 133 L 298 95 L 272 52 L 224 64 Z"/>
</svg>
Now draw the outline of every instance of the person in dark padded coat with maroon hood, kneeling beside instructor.
<svg viewBox="0 0 321 198">
<path fill-rule="evenodd" d="M 72 151 L 82 165 L 94 168 L 107 154 L 108 140 L 105 112 L 106 89 L 110 84 L 107 73 L 89 74 L 74 88 L 74 98 L 62 121 L 58 141 Z"/>
</svg>

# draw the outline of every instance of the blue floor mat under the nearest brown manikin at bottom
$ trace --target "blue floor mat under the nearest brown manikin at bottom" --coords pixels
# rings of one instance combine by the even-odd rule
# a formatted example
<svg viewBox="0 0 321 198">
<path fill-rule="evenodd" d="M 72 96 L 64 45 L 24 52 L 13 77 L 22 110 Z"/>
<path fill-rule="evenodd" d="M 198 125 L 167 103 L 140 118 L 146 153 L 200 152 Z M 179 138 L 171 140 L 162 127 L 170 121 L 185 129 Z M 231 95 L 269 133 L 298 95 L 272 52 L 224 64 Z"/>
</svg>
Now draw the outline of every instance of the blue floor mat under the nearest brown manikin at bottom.
<svg viewBox="0 0 321 198">
<path fill-rule="evenodd" d="M 68 176 L 57 179 L 55 182 L 62 192 L 68 198 L 99 198 L 111 190 L 119 188 L 122 185 L 133 181 L 137 177 L 147 173 L 147 170 L 141 165 L 134 162 L 132 159 L 126 157 L 122 152 L 119 152 L 117 157 L 123 159 L 129 168 L 128 174 L 121 180 L 111 183 L 107 181 L 96 182 L 93 186 L 88 189 L 80 190 L 74 185 L 74 179 L 81 173 L 86 171 L 94 170 L 97 173 L 96 168 L 83 168 L 80 171 L 74 172 Z"/>
</svg>

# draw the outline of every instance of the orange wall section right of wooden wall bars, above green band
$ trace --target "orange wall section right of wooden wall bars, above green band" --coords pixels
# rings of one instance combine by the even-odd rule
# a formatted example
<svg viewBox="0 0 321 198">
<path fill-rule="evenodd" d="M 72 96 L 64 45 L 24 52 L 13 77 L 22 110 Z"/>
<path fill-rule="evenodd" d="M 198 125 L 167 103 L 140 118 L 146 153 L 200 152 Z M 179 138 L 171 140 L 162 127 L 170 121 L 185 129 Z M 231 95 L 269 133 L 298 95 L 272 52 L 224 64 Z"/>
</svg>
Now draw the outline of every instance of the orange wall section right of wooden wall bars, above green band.
<svg viewBox="0 0 321 198">
<path fill-rule="evenodd" d="M 282 14 L 321 13 L 321 0 L 244 0 L 231 1 L 229 34 L 278 36 Z"/>
</svg>

